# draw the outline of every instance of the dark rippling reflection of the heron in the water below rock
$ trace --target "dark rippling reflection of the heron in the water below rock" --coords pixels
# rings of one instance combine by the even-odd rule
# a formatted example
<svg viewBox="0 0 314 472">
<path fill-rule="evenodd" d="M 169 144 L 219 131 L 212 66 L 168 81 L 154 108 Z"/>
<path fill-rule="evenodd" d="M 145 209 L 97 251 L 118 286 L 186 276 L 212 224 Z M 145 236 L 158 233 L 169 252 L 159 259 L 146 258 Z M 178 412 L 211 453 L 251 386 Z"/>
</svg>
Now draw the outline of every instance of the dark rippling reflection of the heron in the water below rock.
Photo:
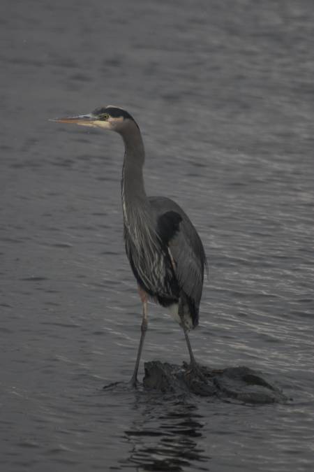
<svg viewBox="0 0 314 472">
<path fill-rule="evenodd" d="M 130 457 L 121 464 L 135 464 L 144 471 L 179 472 L 192 465 L 198 469 L 195 463 L 208 461 L 197 446 L 204 424 L 192 400 L 147 394 L 140 397 L 134 406 L 140 414 L 124 436 L 132 444 Z M 209 470 L 202 465 L 202 471 Z"/>
</svg>

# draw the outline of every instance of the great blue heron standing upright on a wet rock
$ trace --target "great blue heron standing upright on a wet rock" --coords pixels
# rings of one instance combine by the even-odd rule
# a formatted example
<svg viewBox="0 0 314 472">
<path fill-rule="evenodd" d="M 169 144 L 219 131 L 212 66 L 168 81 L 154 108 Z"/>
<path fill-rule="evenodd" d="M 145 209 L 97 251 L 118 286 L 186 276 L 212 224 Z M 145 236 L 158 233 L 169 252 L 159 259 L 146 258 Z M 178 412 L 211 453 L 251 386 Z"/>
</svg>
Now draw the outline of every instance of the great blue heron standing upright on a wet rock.
<svg viewBox="0 0 314 472">
<path fill-rule="evenodd" d="M 96 108 L 88 115 L 56 118 L 56 122 L 110 129 L 121 134 L 125 154 L 121 180 L 126 255 L 142 301 L 142 326 L 135 369 L 137 371 L 147 331 L 147 301 L 151 299 L 170 312 L 184 329 L 190 367 L 197 369 L 188 331 L 198 324 L 200 299 L 207 264 L 200 236 L 190 219 L 174 201 L 147 196 L 144 188 L 144 145 L 140 128 L 122 108 Z"/>
</svg>

